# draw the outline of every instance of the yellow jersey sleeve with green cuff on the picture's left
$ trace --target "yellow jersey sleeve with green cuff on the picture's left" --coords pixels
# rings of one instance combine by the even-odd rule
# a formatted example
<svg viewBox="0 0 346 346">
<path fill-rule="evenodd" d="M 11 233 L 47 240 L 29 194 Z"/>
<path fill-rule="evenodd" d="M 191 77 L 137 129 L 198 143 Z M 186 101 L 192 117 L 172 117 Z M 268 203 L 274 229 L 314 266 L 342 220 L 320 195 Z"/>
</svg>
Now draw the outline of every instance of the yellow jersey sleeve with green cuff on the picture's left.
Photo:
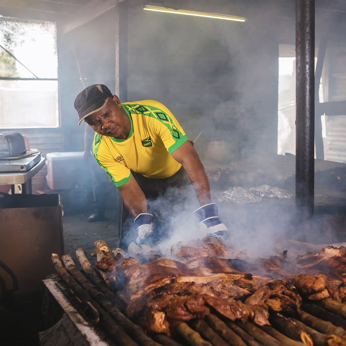
<svg viewBox="0 0 346 346">
<path fill-rule="evenodd" d="M 132 173 L 124 164 L 120 163 L 122 156 L 114 159 L 104 147 L 100 148 L 101 139 L 102 135 L 96 134 L 92 145 L 95 159 L 117 187 L 124 185 L 130 180 Z"/>
</svg>

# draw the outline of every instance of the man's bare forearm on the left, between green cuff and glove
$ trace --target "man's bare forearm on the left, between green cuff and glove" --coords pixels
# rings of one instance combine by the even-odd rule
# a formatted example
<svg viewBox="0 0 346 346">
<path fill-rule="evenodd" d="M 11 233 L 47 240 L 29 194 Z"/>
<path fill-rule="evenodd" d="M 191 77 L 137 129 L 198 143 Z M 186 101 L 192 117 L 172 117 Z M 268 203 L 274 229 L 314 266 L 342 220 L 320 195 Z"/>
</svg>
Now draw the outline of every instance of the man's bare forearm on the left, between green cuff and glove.
<svg viewBox="0 0 346 346">
<path fill-rule="evenodd" d="M 125 207 L 134 218 L 139 214 L 147 212 L 147 200 L 144 192 L 133 176 L 124 185 L 119 186 L 118 190 L 125 203 Z"/>
</svg>

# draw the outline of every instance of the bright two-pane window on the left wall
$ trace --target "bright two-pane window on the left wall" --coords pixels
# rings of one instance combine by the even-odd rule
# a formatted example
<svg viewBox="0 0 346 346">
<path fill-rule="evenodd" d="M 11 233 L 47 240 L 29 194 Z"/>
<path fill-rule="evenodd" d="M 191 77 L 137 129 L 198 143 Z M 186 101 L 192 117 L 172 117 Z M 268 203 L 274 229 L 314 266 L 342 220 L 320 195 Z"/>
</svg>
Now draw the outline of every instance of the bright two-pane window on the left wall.
<svg viewBox="0 0 346 346">
<path fill-rule="evenodd" d="M 56 25 L 0 17 L 0 128 L 59 126 Z"/>
</svg>

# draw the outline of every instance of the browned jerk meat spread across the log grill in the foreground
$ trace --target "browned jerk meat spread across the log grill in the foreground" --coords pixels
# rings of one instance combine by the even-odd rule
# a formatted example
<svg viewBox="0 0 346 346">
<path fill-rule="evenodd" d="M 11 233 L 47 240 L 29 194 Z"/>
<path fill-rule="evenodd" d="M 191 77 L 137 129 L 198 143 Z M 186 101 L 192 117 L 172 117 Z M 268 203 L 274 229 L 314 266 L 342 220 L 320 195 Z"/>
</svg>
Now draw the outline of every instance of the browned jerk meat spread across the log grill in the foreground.
<svg viewBox="0 0 346 346">
<path fill-rule="evenodd" d="M 215 237 L 205 237 L 187 245 L 176 243 L 171 254 L 172 259 L 153 262 L 143 255 L 121 263 L 113 257 L 95 262 L 108 273 L 106 282 L 113 287 L 116 283 L 126 315 L 140 318 L 149 333 L 170 335 L 171 325 L 203 319 L 210 312 L 264 326 L 269 311 L 299 314 L 302 297 L 345 301 L 345 248 L 326 247 L 319 254 L 298 256 L 295 263 L 284 256 L 249 262 L 239 258 L 246 257 L 244 251 L 226 249 Z M 328 277 L 320 274 L 326 267 Z"/>
</svg>

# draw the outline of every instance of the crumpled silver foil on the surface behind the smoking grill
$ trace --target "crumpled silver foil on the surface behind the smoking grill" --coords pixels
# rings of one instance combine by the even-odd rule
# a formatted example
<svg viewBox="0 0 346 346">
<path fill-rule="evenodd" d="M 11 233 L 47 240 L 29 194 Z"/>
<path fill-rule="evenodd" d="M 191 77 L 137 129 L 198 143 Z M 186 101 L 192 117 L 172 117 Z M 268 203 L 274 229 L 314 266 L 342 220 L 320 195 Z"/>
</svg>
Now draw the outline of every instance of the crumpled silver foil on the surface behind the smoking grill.
<svg viewBox="0 0 346 346">
<path fill-rule="evenodd" d="M 221 192 L 218 196 L 219 203 L 260 203 L 262 198 L 292 198 L 292 194 L 270 185 L 261 185 L 256 188 L 233 188 Z"/>
</svg>

